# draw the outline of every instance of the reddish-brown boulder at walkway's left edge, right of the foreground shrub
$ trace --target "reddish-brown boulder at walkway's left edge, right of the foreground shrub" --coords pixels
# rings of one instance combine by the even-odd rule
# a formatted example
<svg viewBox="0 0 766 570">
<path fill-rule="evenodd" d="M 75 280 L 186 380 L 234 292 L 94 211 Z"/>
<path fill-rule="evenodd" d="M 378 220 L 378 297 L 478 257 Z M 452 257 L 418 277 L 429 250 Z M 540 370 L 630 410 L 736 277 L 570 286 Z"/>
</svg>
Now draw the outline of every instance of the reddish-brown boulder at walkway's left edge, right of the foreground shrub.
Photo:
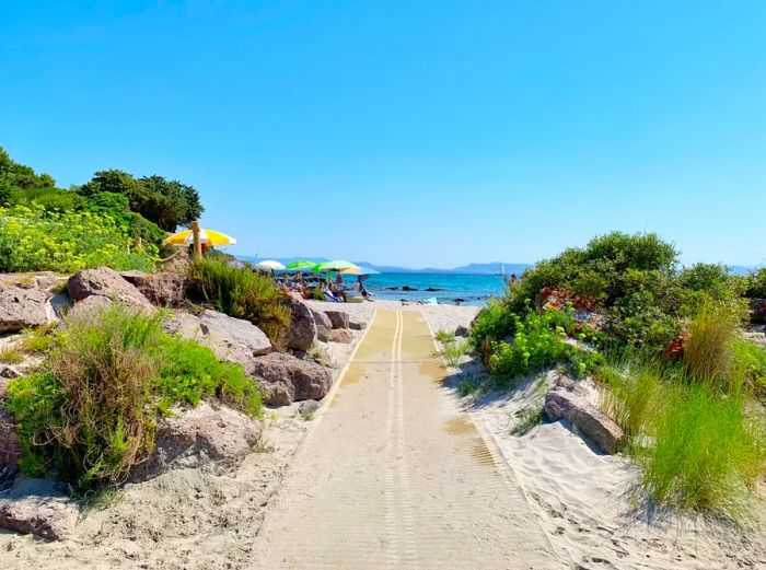
<svg viewBox="0 0 766 570">
<path fill-rule="evenodd" d="M 315 362 L 279 352 L 252 360 L 246 371 L 258 379 L 258 384 L 269 394 L 266 402 L 272 405 L 322 399 L 333 385 L 329 370 Z M 274 387 L 274 384 L 278 386 Z"/>
</svg>

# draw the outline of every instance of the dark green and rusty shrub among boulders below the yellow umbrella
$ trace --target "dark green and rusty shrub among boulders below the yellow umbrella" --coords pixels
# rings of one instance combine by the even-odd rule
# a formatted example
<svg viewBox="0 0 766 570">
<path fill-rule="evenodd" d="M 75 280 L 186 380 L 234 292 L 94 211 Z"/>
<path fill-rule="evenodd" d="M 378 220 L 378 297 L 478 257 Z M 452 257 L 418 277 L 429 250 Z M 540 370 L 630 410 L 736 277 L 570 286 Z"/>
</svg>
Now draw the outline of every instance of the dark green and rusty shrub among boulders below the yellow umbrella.
<svg viewBox="0 0 766 570">
<path fill-rule="evenodd" d="M 276 345 L 290 326 L 290 307 L 270 277 L 239 269 L 214 258 L 197 259 L 189 269 L 192 295 L 229 316 L 252 322 Z"/>
</svg>

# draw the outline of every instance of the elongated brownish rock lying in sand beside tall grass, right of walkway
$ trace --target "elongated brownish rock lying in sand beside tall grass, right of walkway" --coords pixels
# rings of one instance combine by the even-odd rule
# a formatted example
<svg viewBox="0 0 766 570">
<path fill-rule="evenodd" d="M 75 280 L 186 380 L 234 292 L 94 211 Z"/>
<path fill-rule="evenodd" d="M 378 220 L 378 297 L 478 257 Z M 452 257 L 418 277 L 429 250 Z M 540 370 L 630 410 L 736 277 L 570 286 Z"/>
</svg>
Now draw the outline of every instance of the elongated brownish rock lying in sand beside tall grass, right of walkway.
<svg viewBox="0 0 766 570">
<path fill-rule="evenodd" d="M 577 391 L 553 389 L 545 395 L 545 415 L 552 421 L 571 421 L 584 435 L 604 453 L 619 450 L 625 434 L 617 423 L 590 404 Z"/>
</svg>

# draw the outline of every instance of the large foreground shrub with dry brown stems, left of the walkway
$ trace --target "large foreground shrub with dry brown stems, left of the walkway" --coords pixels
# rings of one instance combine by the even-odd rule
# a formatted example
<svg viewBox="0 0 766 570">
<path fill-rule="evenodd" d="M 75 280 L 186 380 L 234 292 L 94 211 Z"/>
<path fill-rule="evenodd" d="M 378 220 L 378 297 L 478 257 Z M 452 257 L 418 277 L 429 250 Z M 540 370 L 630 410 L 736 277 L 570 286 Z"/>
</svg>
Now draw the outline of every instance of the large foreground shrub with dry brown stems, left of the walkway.
<svg viewBox="0 0 766 570">
<path fill-rule="evenodd" d="M 158 416 L 174 404 L 216 396 L 260 414 L 241 367 L 167 336 L 161 318 L 115 304 L 68 321 L 40 371 L 9 383 L 25 473 L 53 474 L 82 492 L 115 485 L 152 451 Z"/>
</svg>

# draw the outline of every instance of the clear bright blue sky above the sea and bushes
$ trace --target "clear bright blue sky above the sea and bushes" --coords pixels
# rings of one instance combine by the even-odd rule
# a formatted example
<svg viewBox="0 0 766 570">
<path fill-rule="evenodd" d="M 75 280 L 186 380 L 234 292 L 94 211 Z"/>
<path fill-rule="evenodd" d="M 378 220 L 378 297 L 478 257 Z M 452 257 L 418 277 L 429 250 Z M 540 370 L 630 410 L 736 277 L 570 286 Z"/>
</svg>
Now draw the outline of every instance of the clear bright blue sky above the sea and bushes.
<svg viewBox="0 0 766 570">
<path fill-rule="evenodd" d="M 108 4 L 108 5 L 107 5 Z M 0 144 L 200 190 L 234 253 L 766 260 L 766 2 L 3 2 Z"/>
</svg>

